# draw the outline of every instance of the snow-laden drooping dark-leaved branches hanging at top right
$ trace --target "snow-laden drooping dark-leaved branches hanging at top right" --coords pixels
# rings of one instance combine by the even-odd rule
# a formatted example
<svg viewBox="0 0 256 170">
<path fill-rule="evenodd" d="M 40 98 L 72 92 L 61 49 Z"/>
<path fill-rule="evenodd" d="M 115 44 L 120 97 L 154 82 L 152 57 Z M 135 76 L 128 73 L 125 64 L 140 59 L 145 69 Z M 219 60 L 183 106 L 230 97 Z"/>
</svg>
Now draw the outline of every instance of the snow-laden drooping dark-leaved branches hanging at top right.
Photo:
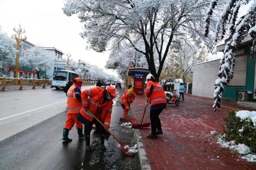
<svg viewBox="0 0 256 170">
<path fill-rule="evenodd" d="M 249 36 L 252 38 L 253 43 L 251 46 L 251 58 L 253 58 L 256 49 L 256 1 L 254 0 L 247 11 L 247 14 L 238 17 L 239 8 L 242 5 L 248 5 L 250 0 L 228 0 L 223 11 L 219 16 L 219 20 L 215 26 L 214 37 L 215 41 L 224 38 L 227 31 L 228 42 L 226 43 L 224 54 L 220 60 L 220 70 L 218 79 L 215 81 L 214 90 L 214 111 L 219 110 L 220 102 L 222 100 L 222 93 L 224 86 L 229 83 L 233 78 L 235 66 L 235 52 L 244 37 Z M 209 23 L 211 23 L 213 10 L 218 5 L 217 0 L 212 0 L 205 17 L 205 36 L 209 34 Z"/>
</svg>

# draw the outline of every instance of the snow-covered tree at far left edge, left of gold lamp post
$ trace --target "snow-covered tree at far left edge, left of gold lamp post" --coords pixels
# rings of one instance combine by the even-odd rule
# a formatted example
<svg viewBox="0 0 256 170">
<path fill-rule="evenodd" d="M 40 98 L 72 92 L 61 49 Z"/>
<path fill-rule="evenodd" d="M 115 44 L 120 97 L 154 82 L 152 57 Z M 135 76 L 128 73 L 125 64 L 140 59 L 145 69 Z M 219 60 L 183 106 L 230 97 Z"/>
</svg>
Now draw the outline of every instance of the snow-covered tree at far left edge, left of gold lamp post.
<svg viewBox="0 0 256 170">
<path fill-rule="evenodd" d="M 16 52 L 16 43 L 0 30 L 0 61 L 14 64 Z"/>
</svg>

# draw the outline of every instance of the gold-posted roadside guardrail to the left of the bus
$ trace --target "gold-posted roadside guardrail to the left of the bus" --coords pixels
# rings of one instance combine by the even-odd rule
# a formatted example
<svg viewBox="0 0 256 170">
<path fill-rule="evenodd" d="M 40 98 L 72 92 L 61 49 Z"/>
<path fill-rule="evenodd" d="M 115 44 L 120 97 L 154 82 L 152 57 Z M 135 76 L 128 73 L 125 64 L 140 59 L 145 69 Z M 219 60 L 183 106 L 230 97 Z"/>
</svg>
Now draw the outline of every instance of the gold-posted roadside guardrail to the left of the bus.
<svg viewBox="0 0 256 170">
<path fill-rule="evenodd" d="M 36 78 L 7 78 L 5 76 L 0 77 L 0 89 L 7 90 L 11 88 L 19 88 L 23 90 L 24 87 L 31 87 L 32 89 L 36 89 L 36 87 L 51 87 L 52 80 L 44 79 L 36 79 Z"/>
</svg>

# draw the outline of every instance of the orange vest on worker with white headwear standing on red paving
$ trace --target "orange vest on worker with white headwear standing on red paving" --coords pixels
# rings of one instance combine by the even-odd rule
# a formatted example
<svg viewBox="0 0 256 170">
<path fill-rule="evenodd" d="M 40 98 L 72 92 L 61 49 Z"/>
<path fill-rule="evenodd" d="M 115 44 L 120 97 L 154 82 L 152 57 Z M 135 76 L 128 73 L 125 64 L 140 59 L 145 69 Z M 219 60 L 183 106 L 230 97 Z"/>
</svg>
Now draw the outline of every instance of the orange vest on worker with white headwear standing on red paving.
<svg viewBox="0 0 256 170">
<path fill-rule="evenodd" d="M 154 88 L 153 88 L 152 94 L 149 96 L 149 91 L 152 84 Z M 151 103 L 151 105 L 166 103 L 166 95 L 164 93 L 164 89 L 157 82 L 153 82 L 153 81 L 147 82 L 145 93 L 147 97 L 149 96 L 149 102 Z"/>
</svg>

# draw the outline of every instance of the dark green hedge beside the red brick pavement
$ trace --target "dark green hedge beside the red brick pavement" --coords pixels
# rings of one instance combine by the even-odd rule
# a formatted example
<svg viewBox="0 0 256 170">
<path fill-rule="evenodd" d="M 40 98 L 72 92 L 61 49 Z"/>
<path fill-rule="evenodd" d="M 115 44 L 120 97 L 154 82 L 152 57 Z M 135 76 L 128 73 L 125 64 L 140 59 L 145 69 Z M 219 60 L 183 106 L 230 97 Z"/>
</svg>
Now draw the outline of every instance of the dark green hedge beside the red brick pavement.
<svg viewBox="0 0 256 170">
<path fill-rule="evenodd" d="M 245 144 L 253 152 L 256 152 L 256 128 L 253 126 L 251 118 L 241 121 L 236 116 L 236 112 L 232 111 L 224 118 L 224 121 L 227 123 L 227 129 L 223 128 L 225 133 L 223 138 L 226 141 L 234 140 L 236 144 Z M 239 132 L 242 127 L 243 132 Z"/>
</svg>

